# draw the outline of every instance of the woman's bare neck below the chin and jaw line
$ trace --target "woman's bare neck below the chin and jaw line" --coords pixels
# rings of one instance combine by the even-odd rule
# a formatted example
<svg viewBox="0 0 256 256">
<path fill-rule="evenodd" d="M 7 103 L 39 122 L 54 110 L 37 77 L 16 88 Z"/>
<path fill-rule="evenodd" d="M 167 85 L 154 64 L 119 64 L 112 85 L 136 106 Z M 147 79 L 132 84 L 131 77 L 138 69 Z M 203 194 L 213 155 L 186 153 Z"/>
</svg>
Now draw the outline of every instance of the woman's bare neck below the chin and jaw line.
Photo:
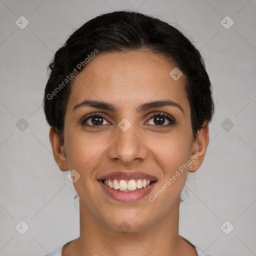
<svg viewBox="0 0 256 256">
<path fill-rule="evenodd" d="M 188 245 L 178 235 L 179 200 L 154 224 L 126 233 L 109 228 L 91 213 L 81 199 L 79 202 L 80 236 L 74 249 L 77 255 L 181 255 L 181 247 L 184 248 L 184 243 L 186 247 Z"/>
</svg>

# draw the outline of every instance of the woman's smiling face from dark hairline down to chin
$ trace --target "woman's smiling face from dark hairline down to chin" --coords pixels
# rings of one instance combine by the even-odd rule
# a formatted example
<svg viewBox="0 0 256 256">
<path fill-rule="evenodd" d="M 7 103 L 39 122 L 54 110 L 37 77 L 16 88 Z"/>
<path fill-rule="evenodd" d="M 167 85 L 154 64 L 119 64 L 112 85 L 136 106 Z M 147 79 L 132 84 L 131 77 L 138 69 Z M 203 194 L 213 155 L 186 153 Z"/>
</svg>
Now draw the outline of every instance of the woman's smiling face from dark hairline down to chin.
<svg viewBox="0 0 256 256">
<path fill-rule="evenodd" d="M 187 171 L 202 161 L 192 136 L 185 77 L 173 79 L 174 67 L 146 50 L 99 52 L 74 79 L 59 164 L 80 175 L 73 185 L 81 202 L 113 229 L 126 221 L 130 230 L 141 230 L 171 212 Z M 160 103 L 148 104 L 155 101 Z M 150 180 L 146 187 L 143 179 Z M 130 190 L 138 183 L 142 188 L 127 191 L 123 181 Z M 125 192 L 110 188 L 110 182 Z"/>
</svg>

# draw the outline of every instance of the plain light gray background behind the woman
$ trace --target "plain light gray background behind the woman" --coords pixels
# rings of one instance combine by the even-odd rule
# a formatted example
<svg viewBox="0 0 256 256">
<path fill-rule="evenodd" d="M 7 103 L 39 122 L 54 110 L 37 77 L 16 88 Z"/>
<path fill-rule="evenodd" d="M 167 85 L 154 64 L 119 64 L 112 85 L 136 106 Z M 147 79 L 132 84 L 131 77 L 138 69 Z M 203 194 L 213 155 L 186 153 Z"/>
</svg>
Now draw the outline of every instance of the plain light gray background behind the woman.
<svg viewBox="0 0 256 256">
<path fill-rule="evenodd" d="M 53 160 L 41 106 L 46 68 L 81 24 L 120 9 L 176 22 L 212 82 L 210 143 L 189 175 L 180 234 L 208 254 L 256 255 L 255 0 L 0 0 L 0 255 L 44 255 L 79 236 L 78 197 Z"/>
</svg>

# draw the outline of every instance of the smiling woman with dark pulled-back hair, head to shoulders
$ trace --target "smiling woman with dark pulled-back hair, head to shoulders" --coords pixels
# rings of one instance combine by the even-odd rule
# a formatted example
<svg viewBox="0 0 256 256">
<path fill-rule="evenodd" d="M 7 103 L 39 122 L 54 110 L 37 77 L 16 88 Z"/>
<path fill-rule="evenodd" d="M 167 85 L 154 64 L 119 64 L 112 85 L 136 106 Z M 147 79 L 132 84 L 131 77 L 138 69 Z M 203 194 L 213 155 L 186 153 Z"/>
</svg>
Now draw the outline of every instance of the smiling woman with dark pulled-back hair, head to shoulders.
<svg viewBox="0 0 256 256">
<path fill-rule="evenodd" d="M 199 51 L 166 22 L 115 11 L 78 28 L 49 67 L 50 142 L 80 208 L 80 236 L 50 255 L 206 255 L 178 234 L 214 108 Z"/>
</svg>

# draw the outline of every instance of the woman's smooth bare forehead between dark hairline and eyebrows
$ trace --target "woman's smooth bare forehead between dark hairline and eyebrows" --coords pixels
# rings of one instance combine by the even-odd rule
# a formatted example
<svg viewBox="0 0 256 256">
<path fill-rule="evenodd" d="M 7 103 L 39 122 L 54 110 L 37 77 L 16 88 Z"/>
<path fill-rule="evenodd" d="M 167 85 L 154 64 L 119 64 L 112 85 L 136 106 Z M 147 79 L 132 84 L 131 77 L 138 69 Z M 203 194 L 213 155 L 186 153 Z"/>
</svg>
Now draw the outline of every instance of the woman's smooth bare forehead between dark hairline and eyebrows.
<svg viewBox="0 0 256 256">
<path fill-rule="evenodd" d="M 185 107 L 185 77 L 174 80 L 169 74 L 175 67 L 169 58 L 148 50 L 99 52 L 75 76 L 68 101 L 74 105 L 92 98 L 130 105 L 161 98 Z"/>
</svg>

